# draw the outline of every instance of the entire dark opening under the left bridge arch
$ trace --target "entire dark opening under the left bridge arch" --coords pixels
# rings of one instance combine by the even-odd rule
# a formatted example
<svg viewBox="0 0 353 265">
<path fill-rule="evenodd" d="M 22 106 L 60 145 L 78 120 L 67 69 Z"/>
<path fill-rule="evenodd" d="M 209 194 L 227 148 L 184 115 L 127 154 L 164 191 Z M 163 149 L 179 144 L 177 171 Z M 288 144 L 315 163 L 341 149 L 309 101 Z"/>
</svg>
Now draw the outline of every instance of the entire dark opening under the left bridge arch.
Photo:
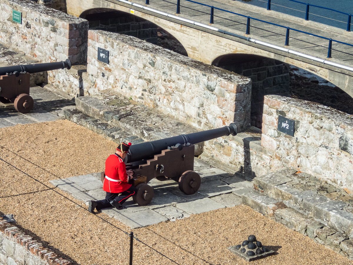
<svg viewBox="0 0 353 265">
<path fill-rule="evenodd" d="M 92 8 L 82 12 L 79 17 L 88 20 L 89 29 L 137 37 L 187 56 L 184 46 L 168 31 L 133 14 L 112 8 Z"/>
</svg>

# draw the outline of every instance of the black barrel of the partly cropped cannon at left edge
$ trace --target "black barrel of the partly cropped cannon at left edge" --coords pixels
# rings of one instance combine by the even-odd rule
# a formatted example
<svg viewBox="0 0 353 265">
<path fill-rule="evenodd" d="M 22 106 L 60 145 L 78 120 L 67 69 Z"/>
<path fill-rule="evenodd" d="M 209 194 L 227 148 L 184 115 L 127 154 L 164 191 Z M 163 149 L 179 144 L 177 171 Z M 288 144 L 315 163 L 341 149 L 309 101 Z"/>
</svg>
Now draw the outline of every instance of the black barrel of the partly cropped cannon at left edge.
<svg viewBox="0 0 353 265">
<path fill-rule="evenodd" d="M 71 61 L 66 59 L 66 61 L 61 62 L 46 62 L 44 64 L 30 64 L 30 65 L 15 65 L 15 66 L 5 66 L 0 67 L 0 76 L 4 76 L 6 73 L 13 72 L 27 72 L 27 73 L 39 73 L 44 71 L 51 71 L 56 69 L 70 69 Z"/>
</svg>

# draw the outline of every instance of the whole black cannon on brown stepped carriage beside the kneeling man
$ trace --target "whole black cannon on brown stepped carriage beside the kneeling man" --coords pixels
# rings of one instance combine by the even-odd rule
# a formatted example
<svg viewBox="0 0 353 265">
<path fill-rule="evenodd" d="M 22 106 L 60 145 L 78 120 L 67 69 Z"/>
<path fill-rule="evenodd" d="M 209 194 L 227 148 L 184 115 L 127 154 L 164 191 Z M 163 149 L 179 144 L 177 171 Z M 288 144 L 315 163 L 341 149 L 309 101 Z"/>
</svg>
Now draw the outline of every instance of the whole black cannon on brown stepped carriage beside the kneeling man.
<svg viewBox="0 0 353 265">
<path fill-rule="evenodd" d="M 131 145 L 124 162 L 126 170 L 133 171 L 131 184 L 138 189 L 133 200 L 139 205 L 151 202 L 154 192 L 147 183 L 154 178 L 178 182 L 180 191 L 185 194 L 197 192 L 201 177 L 193 171 L 194 144 L 230 134 L 236 135 L 237 132 L 237 126 L 232 123 L 213 130 Z M 102 172 L 103 180 L 104 172 Z"/>
</svg>

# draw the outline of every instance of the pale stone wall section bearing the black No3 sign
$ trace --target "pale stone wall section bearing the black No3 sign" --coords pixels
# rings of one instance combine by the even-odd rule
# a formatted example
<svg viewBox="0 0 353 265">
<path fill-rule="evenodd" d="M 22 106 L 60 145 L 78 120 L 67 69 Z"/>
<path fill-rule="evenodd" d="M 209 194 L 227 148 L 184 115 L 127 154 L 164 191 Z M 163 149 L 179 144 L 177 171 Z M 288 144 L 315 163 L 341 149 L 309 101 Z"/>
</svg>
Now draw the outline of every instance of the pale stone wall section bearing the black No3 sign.
<svg viewBox="0 0 353 265">
<path fill-rule="evenodd" d="M 90 30 L 85 95 L 109 89 L 201 129 L 250 124 L 251 80 L 137 38 Z M 98 47 L 109 63 L 97 60 Z"/>
</svg>

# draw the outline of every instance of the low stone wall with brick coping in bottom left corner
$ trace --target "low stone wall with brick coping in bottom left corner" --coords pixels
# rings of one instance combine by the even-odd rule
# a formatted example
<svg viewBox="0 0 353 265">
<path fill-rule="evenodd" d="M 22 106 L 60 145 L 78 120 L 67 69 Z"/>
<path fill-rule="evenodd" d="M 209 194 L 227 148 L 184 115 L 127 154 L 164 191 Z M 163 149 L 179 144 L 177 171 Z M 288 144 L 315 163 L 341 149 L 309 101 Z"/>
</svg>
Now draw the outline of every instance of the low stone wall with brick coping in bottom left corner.
<svg viewBox="0 0 353 265">
<path fill-rule="evenodd" d="M 33 239 L 14 223 L 0 217 L 1 265 L 70 265 L 42 243 Z"/>
</svg>

